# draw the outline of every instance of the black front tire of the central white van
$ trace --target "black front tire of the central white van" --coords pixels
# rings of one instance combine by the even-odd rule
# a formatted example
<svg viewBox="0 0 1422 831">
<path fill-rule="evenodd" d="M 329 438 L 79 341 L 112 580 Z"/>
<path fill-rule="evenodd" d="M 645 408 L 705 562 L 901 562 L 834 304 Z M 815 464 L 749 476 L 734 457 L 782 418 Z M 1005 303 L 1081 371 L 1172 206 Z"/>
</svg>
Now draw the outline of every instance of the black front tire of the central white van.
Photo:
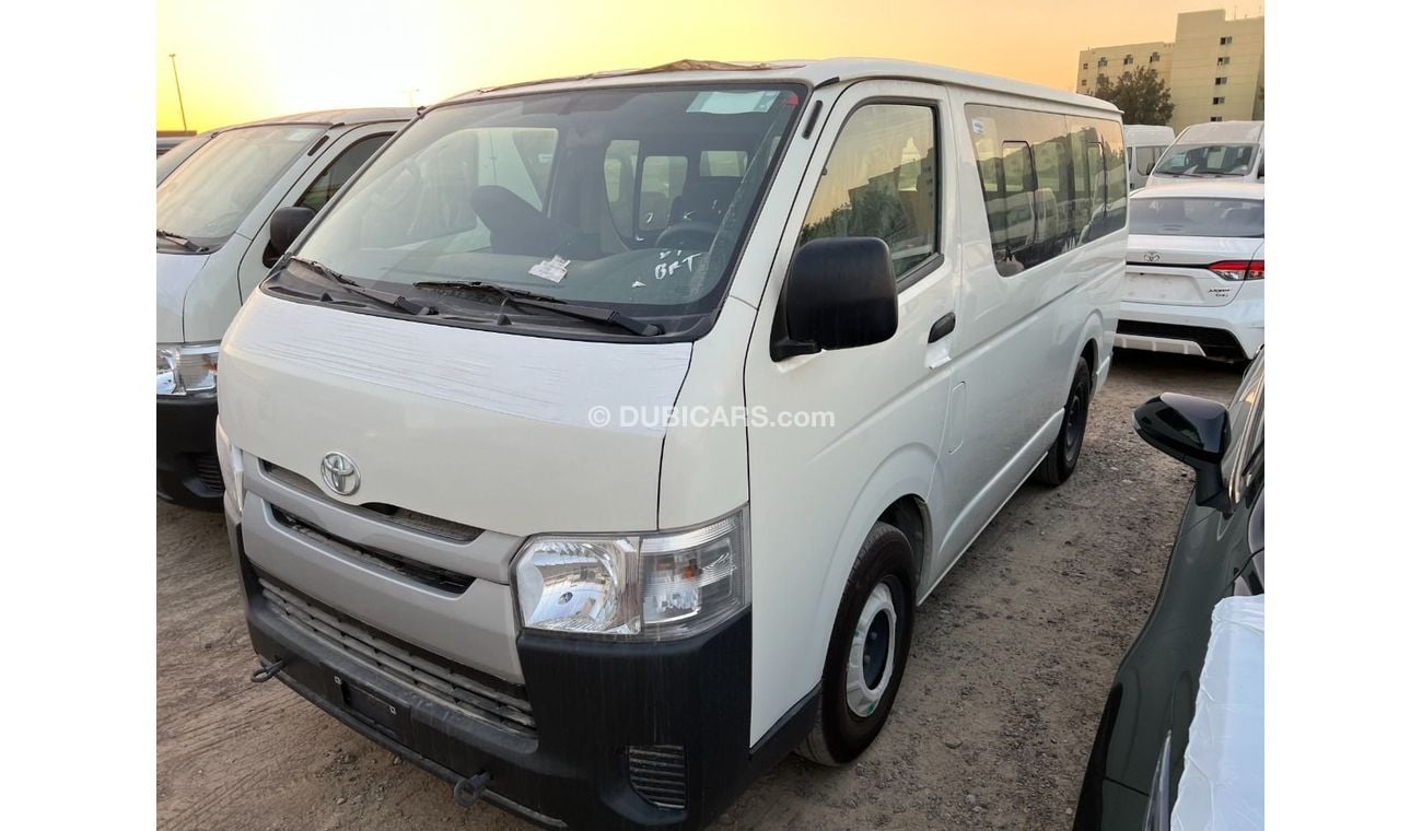
<svg viewBox="0 0 1422 831">
<path fill-rule="evenodd" d="M 796 749 L 796 753 L 811 761 L 825 766 L 840 766 L 853 761 L 879 736 L 879 730 L 893 709 L 893 700 L 899 695 L 899 685 L 903 682 L 903 670 L 909 662 L 909 641 L 913 636 L 913 548 L 909 538 L 899 528 L 887 523 L 875 523 L 869 537 L 859 548 L 859 557 L 849 572 L 849 582 L 845 595 L 839 601 L 839 612 L 835 615 L 835 629 L 829 638 L 829 652 L 825 656 L 825 669 L 820 676 L 819 710 L 815 715 L 815 726 L 809 736 Z M 866 604 L 882 602 L 883 594 L 876 590 L 883 585 L 892 599 L 893 615 L 880 609 L 880 615 L 873 618 L 873 624 L 866 626 L 863 638 L 875 638 L 875 632 L 893 632 L 884 653 L 879 661 L 872 661 L 872 649 L 866 645 L 862 662 L 862 680 L 873 679 L 869 686 L 879 688 L 872 705 L 865 700 L 856 706 L 869 706 L 867 715 L 856 713 L 849 703 L 849 656 L 856 641 L 859 618 L 869 608 Z M 880 639 L 882 645 L 883 641 Z M 892 663 L 889 663 L 892 652 Z M 877 663 L 870 669 L 872 663 Z M 883 676 L 883 669 L 889 669 L 889 676 Z M 866 675 L 872 673 L 872 675 Z M 863 688 L 860 688 L 863 689 Z M 867 690 L 865 690 L 867 692 Z"/>
</svg>

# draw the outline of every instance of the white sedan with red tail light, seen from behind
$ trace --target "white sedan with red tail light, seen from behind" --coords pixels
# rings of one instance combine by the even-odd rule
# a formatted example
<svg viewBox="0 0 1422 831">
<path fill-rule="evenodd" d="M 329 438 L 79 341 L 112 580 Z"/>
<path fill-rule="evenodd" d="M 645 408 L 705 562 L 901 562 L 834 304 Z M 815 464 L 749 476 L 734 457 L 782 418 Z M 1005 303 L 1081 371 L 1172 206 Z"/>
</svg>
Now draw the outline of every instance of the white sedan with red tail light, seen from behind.
<svg viewBox="0 0 1422 831">
<path fill-rule="evenodd" d="M 1253 359 L 1264 345 L 1264 186 L 1142 188 L 1129 222 L 1116 347 Z"/>
</svg>

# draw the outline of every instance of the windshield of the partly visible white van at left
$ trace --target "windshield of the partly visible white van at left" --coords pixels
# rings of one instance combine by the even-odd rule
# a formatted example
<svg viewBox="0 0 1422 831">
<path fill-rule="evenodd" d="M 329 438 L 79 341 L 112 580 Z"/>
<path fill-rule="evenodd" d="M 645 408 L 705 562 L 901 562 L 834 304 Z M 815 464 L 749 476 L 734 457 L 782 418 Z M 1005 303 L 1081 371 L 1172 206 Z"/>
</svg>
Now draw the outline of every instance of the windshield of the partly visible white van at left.
<svg viewBox="0 0 1422 831">
<path fill-rule="evenodd" d="M 219 134 L 158 186 L 158 227 L 202 246 L 232 236 L 323 126 L 247 126 Z"/>
</svg>

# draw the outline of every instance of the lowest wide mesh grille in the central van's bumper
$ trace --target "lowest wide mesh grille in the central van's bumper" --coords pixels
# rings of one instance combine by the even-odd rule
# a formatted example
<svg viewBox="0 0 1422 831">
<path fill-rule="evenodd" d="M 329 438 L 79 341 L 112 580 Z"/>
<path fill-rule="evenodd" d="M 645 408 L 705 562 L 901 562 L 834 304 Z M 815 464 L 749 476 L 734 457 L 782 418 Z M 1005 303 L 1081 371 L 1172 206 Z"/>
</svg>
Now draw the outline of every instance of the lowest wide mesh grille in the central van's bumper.
<svg viewBox="0 0 1422 831">
<path fill-rule="evenodd" d="M 475 678 L 468 668 L 402 643 L 269 577 L 259 574 L 257 582 L 273 612 L 321 643 L 479 722 L 520 736 L 536 734 L 523 688 Z"/>
</svg>

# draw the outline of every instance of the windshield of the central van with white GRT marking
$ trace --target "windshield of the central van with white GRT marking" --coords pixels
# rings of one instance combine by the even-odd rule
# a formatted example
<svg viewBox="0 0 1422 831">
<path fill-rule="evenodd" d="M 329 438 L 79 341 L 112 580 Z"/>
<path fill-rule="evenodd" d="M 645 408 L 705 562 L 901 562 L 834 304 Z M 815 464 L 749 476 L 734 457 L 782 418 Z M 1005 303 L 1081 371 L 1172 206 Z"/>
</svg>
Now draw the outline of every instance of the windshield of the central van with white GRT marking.
<svg viewBox="0 0 1422 831">
<path fill-rule="evenodd" d="M 299 256 L 407 295 L 474 280 L 644 317 L 712 311 L 796 89 L 658 85 L 435 108 Z"/>
</svg>

